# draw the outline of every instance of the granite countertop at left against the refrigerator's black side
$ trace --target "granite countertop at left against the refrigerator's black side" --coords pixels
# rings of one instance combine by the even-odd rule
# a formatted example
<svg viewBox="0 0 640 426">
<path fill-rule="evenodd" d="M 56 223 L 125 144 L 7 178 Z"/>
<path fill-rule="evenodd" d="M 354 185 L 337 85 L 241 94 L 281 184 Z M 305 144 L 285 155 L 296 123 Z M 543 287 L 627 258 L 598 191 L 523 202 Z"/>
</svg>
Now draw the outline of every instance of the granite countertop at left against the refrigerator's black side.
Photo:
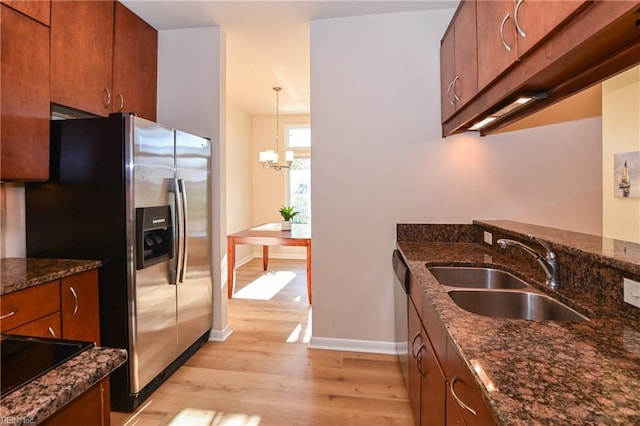
<svg viewBox="0 0 640 426">
<path fill-rule="evenodd" d="M 99 260 L 0 259 L 0 295 L 99 268 Z"/>
</svg>

